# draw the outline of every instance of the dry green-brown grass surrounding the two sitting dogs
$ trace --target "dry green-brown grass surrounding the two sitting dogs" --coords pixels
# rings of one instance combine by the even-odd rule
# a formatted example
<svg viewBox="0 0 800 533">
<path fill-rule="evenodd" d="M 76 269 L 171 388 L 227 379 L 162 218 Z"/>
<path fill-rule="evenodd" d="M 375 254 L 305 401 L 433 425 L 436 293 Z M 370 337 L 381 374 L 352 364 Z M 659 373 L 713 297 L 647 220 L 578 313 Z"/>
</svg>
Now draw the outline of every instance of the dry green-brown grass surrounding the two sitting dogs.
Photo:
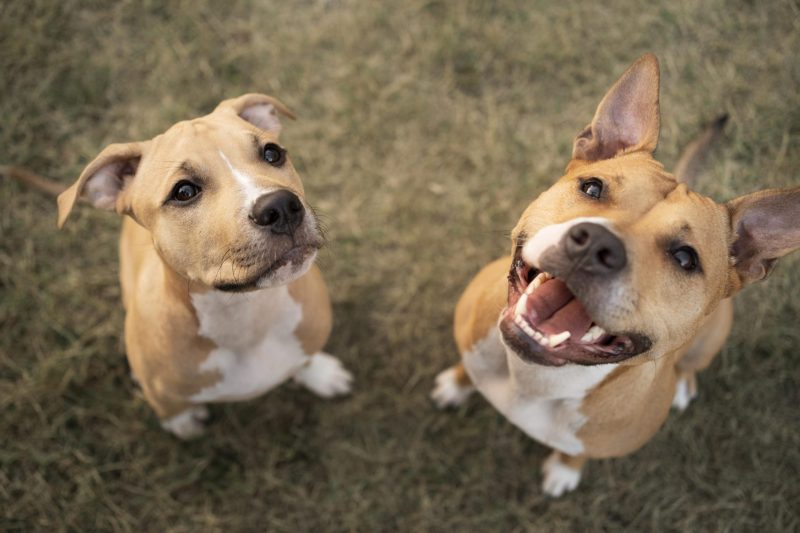
<svg viewBox="0 0 800 533">
<path fill-rule="evenodd" d="M 453 306 L 560 175 L 607 87 L 662 65 L 669 166 L 720 112 L 700 189 L 800 181 L 796 1 L 77 2 L 0 5 L 0 163 L 64 183 L 106 144 L 244 92 L 299 115 L 284 140 L 332 239 L 329 351 L 355 394 L 287 385 L 160 430 L 128 378 L 115 216 L 0 183 L 0 529 L 790 531 L 800 527 L 800 262 L 737 301 L 701 397 L 641 451 L 543 497 L 545 448 L 481 398 L 440 413 Z"/>
</svg>

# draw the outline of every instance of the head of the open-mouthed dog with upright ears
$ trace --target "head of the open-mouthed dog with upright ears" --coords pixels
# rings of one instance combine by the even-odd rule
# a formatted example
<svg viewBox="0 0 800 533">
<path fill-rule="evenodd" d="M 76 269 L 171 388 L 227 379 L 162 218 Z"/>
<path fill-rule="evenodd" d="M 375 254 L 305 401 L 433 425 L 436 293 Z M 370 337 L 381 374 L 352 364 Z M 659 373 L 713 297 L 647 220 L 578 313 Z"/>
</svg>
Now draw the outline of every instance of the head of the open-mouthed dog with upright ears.
<svg viewBox="0 0 800 533">
<path fill-rule="evenodd" d="M 800 188 L 717 204 L 653 158 L 658 85 L 657 60 L 643 56 L 576 138 L 566 174 L 512 232 L 500 329 L 524 360 L 663 355 L 688 342 L 721 299 L 800 247 Z"/>
</svg>

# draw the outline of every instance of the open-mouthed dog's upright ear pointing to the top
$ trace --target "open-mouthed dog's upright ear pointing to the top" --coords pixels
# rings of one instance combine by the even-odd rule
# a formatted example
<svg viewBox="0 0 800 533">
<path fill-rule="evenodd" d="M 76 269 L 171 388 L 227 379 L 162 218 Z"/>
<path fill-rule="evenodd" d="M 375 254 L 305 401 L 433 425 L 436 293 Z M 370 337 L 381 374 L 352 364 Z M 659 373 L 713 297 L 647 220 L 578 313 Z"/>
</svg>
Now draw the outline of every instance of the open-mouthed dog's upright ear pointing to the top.
<svg viewBox="0 0 800 533">
<path fill-rule="evenodd" d="M 578 134 L 573 159 L 598 161 L 620 152 L 653 152 L 658 144 L 658 59 L 645 54 L 628 67 Z"/>
</svg>

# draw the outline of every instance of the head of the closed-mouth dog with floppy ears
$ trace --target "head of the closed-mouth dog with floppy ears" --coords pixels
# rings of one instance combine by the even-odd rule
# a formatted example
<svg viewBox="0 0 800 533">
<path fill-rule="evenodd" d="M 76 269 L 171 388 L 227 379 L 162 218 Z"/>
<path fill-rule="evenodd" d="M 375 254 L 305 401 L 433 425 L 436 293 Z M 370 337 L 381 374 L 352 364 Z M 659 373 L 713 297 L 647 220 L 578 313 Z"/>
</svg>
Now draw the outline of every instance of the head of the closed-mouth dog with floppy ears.
<svg viewBox="0 0 800 533">
<path fill-rule="evenodd" d="M 243 291 L 302 275 L 323 243 L 278 141 L 280 102 L 247 94 L 144 142 L 112 144 L 58 199 L 131 216 L 164 262 L 203 286 Z"/>
</svg>

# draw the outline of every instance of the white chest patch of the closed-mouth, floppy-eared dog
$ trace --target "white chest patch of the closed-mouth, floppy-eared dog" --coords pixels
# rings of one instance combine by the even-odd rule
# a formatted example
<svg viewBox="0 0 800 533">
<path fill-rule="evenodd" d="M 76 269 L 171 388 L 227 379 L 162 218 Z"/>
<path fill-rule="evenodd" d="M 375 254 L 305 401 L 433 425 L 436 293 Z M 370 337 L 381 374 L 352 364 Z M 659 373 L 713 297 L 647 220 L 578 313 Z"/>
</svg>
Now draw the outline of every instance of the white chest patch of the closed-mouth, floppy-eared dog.
<svg viewBox="0 0 800 533">
<path fill-rule="evenodd" d="M 192 297 L 200 335 L 217 347 L 200 365 L 222 378 L 195 402 L 246 400 L 283 383 L 308 361 L 294 334 L 302 307 L 287 287 L 243 294 L 211 291 Z"/>
</svg>

